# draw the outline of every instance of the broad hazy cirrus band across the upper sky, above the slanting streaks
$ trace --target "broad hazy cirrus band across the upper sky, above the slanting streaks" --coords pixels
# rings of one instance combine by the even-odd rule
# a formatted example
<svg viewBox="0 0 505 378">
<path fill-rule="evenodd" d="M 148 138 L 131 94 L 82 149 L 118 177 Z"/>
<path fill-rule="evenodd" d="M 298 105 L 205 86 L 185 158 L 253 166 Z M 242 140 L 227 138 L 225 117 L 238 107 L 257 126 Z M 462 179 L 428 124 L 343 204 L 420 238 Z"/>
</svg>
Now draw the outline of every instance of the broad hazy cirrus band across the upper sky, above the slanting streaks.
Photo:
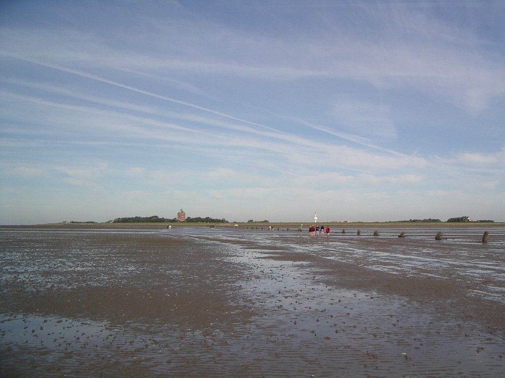
<svg viewBox="0 0 505 378">
<path fill-rule="evenodd" d="M 492 98 L 505 95 L 501 62 L 491 49 L 469 52 L 468 47 L 479 40 L 463 25 L 449 24 L 409 5 L 362 5 L 352 12 L 362 29 L 357 34 L 349 26 L 358 25 L 341 22 L 338 16 L 332 21 L 335 16 L 324 13 L 319 18 L 325 22 L 310 33 L 296 33 L 293 27 L 274 38 L 205 18 L 195 23 L 182 17 L 170 26 L 155 26 L 163 36 L 156 49 L 147 48 L 151 41 L 145 48 L 137 44 L 121 49 L 86 31 L 46 29 L 34 33 L 4 28 L 2 45 L 4 51 L 20 58 L 47 65 L 63 62 L 81 69 L 107 67 L 144 74 L 168 71 L 180 77 L 215 75 L 267 81 L 330 78 L 366 81 L 386 89 L 416 88 L 473 113 L 485 109 Z M 24 49 L 20 41 L 33 38 L 38 38 L 34 48 Z M 139 38 L 148 41 L 147 34 Z"/>
</svg>

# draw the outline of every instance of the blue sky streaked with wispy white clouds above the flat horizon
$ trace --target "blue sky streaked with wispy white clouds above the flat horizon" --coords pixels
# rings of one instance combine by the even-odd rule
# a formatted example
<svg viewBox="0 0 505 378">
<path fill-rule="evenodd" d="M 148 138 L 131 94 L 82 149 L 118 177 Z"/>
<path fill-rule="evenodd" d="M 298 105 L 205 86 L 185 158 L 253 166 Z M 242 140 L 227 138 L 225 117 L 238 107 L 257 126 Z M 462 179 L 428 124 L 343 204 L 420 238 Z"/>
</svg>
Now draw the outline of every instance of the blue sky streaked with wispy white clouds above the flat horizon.
<svg viewBox="0 0 505 378">
<path fill-rule="evenodd" d="M 505 221 L 503 1 L 4 1 L 0 224 Z"/>
</svg>

